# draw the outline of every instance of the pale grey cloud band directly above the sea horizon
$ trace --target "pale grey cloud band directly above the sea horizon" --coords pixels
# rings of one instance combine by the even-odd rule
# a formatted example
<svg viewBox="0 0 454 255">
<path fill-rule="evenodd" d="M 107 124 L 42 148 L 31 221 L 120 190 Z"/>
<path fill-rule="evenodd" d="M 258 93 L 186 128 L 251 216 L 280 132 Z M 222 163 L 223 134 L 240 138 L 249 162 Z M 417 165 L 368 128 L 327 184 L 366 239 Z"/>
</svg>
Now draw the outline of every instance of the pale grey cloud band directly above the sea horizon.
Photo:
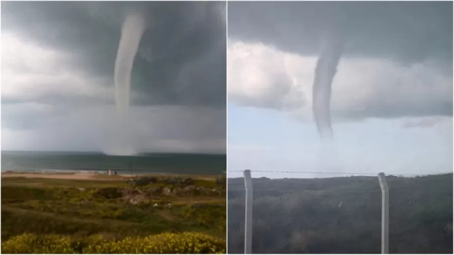
<svg viewBox="0 0 454 255">
<path fill-rule="evenodd" d="M 18 108 L 5 109 L 8 114 L 2 114 L 2 118 L 14 118 L 20 113 Z M 14 119 L 12 123 L 20 125 L 15 130 L 13 126 L 10 129 L 2 126 L 2 148 L 111 153 L 129 145 L 138 152 L 225 153 L 223 108 L 147 106 L 133 109 L 123 123 L 116 121 L 116 109 L 109 106 L 56 112 L 24 110 L 21 115 L 28 114 L 31 119 Z M 24 128 L 30 121 L 38 123 Z M 126 143 L 121 144 L 123 142 Z"/>
</svg>

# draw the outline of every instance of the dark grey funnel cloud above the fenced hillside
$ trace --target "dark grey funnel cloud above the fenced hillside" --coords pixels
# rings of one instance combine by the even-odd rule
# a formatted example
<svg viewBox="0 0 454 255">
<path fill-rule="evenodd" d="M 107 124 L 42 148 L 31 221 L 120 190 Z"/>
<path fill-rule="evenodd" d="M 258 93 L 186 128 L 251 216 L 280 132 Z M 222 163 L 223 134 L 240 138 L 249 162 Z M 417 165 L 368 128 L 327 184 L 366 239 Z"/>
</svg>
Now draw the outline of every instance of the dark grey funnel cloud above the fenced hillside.
<svg viewBox="0 0 454 255">
<path fill-rule="evenodd" d="M 322 142 L 332 141 L 330 114 L 331 85 L 341 59 L 344 43 L 338 38 L 326 40 L 315 68 L 312 87 L 312 111 Z"/>
</svg>

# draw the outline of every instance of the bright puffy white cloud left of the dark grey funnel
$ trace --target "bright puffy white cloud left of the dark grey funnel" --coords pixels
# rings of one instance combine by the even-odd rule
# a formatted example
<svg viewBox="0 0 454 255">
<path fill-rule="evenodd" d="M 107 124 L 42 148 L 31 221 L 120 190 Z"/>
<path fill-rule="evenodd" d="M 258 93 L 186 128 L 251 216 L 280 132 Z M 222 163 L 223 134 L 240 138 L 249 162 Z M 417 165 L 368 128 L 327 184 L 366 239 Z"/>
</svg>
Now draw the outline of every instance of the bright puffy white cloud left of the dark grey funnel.
<svg viewBox="0 0 454 255">
<path fill-rule="evenodd" d="M 294 108 L 304 104 L 296 81 L 286 67 L 286 54 L 263 44 L 230 43 L 229 96 L 240 104 Z"/>
</svg>

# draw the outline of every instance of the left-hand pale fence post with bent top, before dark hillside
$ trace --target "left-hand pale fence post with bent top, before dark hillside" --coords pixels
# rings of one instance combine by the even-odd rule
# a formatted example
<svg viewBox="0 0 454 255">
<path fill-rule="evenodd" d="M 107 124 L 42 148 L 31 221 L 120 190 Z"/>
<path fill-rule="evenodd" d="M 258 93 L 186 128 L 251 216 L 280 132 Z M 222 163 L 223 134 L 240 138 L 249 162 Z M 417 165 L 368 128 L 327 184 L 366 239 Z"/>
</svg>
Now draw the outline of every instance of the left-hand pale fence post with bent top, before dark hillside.
<svg viewBox="0 0 454 255">
<path fill-rule="evenodd" d="M 244 170 L 244 187 L 246 188 L 246 203 L 244 217 L 244 253 L 252 253 L 252 179 L 251 171 Z"/>
</svg>

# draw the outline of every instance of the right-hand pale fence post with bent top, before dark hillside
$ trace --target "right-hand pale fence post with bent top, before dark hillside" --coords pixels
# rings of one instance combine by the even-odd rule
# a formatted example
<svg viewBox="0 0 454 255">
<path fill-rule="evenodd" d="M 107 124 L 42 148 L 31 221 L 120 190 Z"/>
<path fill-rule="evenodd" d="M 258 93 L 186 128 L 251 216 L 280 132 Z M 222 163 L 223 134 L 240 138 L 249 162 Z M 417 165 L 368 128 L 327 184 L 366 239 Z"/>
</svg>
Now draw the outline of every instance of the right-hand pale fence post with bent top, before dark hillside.
<svg viewBox="0 0 454 255">
<path fill-rule="evenodd" d="M 381 254 L 389 253 L 389 189 L 384 173 L 378 174 L 381 187 Z"/>
</svg>

